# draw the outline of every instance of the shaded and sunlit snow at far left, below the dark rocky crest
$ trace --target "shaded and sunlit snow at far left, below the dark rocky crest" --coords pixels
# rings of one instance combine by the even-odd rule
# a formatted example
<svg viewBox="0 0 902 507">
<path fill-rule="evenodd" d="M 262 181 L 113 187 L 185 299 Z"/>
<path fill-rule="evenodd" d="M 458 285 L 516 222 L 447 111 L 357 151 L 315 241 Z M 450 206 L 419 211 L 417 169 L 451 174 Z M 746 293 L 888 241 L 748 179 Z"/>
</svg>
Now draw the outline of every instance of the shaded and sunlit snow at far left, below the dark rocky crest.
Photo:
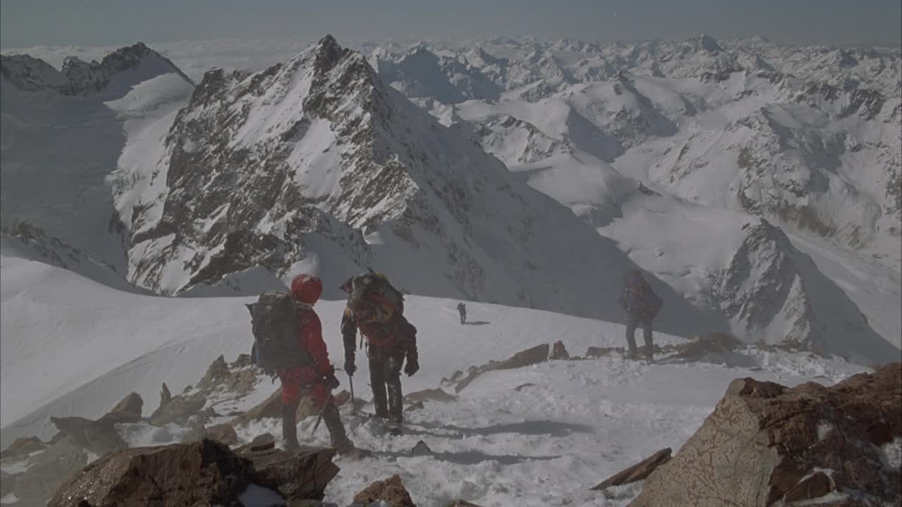
<svg viewBox="0 0 902 507">
<path fill-rule="evenodd" d="M 85 97 L 25 92 L 4 78 L 5 230 L 22 222 L 37 226 L 124 275 L 114 216 L 116 209 L 133 206 L 133 193 L 147 183 L 115 194 L 153 173 L 160 154 L 141 141 L 166 134 L 192 88 L 153 54 Z M 41 196 L 40 202 L 33 196 Z M 126 224 L 129 217 L 126 209 Z"/>
</svg>

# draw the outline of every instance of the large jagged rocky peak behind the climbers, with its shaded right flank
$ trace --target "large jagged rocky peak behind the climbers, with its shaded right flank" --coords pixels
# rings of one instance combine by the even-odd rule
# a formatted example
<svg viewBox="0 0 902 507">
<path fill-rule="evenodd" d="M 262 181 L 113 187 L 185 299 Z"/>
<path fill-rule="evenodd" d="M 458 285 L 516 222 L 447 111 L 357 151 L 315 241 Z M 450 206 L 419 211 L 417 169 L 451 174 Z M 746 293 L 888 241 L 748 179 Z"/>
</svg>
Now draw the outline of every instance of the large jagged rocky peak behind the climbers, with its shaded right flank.
<svg viewBox="0 0 902 507">
<path fill-rule="evenodd" d="M 143 287 L 379 265 L 414 293 L 619 318 L 598 303 L 634 265 L 614 244 L 334 38 L 255 74 L 208 72 L 162 151 L 165 190 L 124 213 Z"/>
</svg>

